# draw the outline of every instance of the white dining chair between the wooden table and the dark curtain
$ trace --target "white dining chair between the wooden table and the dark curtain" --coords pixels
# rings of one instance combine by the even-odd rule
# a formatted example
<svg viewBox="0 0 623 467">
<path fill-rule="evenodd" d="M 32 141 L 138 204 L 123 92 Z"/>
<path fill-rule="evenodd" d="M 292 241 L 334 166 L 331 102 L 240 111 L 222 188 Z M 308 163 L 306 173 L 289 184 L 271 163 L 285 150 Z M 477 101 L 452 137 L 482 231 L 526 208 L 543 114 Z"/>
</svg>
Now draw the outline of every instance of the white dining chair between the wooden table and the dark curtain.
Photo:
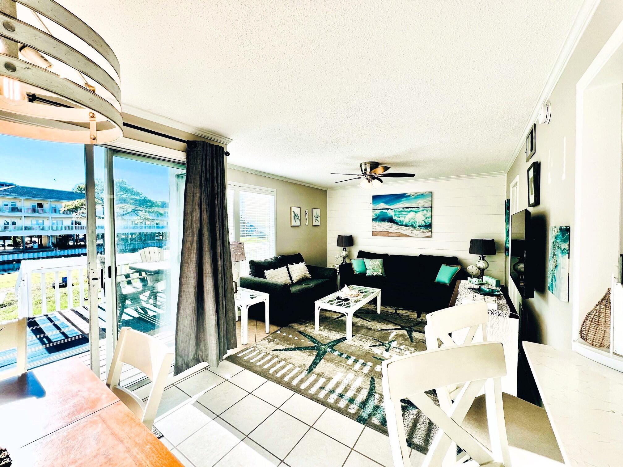
<svg viewBox="0 0 623 467">
<path fill-rule="evenodd" d="M 124 363 L 141 370 L 151 380 L 151 392 L 146 403 L 119 385 Z M 106 385 L 150 430 L 158 412 L 172 363 L 173 351 L 156 337 L 134 329 L 121 328 Z"/>
</svg>

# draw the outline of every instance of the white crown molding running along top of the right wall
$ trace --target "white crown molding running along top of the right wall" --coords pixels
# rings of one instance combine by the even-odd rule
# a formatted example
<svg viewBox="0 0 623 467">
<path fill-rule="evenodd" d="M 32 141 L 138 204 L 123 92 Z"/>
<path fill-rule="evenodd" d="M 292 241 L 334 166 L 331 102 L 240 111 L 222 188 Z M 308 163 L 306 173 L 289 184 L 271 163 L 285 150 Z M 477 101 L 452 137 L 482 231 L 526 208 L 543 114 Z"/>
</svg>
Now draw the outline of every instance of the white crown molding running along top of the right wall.
<svg viewBox="0 0 623 467">
<path fill-rule="evenodd" d="M 543 90 L 541 91 L 541 95 L 536 101 L 535 108 L 533 108 L 532 110 L 530 118 L 528 119 L 528 122 L 523 129 L 523 133 L 521 133 L 522 136 L 515 146 L 515 151 L 513 151 L 513 158 L 511 158 L 508 164 L 506 164 L 505 172 L 508 172 L 510 170 L 510 167 L 515 164 L 516 159 L 518 158 L 519 154 L 521 154 L 521 147 L 525 146 L 526 137 L 528 136 L 528 133 L 532 128 L 532 124 L 536 121 L 536 118 L 539 115 L 539 110 L 541 106 L 546 103 L 546 101 L 551 96 L 551 93 L 554 92 L 554 88 L 556 87 L 558 80 L 563 74 L 564 68 L 567 66 L 569 59 L 571 59 L 571 55 L 573 55 L 573 52 L 576 50 L 576 47 L 578 46 L 578 43 L 582 38 L 584 31 L 586 31 L 586 28 L 591 22 L 592 16 L 595 14 L 595 11 L 599 6 L 599 2 L 601 2 L 601 0 L 584 0 L 582 6 L 580 7 L 578 11 L 578 16 L 576 16 L 576 19 L 573 22 L 573 26 L 571 26 L 571 31 L 569 31 L 569 35 L 564 41 L 563 48 L 560 50 L 560 54 L 558 54 L 558 59 L 556 59 L 556 62 L 554 62 L 551 73 L 549 73 L 549 78 L 546 81 Z"/>
</svg>

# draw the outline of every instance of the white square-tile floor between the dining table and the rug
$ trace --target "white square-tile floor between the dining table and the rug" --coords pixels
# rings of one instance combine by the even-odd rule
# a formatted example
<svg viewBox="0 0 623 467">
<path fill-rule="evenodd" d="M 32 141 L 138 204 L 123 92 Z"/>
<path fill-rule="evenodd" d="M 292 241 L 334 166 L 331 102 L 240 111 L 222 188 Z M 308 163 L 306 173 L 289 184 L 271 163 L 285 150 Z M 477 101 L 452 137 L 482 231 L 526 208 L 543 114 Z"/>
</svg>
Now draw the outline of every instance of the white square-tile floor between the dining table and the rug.
<svg viewBox="0 0 623 467">
<path fill-rule="evenodd" d="M 388 436 L 230 362 L 168 387 L 155 425 L 186 467 L 393 465 Z"/>
</svg>

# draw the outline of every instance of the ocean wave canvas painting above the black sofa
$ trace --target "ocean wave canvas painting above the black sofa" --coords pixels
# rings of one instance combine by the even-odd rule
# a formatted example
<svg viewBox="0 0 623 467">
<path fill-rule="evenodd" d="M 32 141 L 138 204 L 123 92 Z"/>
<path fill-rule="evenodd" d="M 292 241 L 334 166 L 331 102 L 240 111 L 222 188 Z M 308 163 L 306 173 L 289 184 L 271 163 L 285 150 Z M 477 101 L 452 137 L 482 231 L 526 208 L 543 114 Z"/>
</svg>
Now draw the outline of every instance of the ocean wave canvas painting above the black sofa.
<svg viewBox="0 0 623 467">
<path fill-rule="evenodd" d="M 432 192 L 372 196 L 372 235 L 375 237 L 430 237 Z"/>
</svg>

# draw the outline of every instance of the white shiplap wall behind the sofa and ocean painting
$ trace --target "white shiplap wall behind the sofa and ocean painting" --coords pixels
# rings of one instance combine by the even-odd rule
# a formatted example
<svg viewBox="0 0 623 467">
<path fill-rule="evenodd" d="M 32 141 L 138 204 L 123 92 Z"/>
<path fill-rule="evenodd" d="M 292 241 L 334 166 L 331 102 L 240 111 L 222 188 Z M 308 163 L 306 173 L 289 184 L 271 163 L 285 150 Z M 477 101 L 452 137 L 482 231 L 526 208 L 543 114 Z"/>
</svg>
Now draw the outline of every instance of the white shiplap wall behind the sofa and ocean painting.
<svg viewBox="0 0 623 467">
<path fill-rule="evenodd" d="M 432 191 L 432 237 L 373 237 L 372 195 Z M 506 176 L 468 176 L 413 182 L 386 182 L 366 191 L 359 186 L 330 189 L 327 196 L 327 264 L 335 264 L 338 235 L 353 235 L 359 250 L 399 255 L 456 256 L 463 267 L 476 262 L 471 238 L 493 238 L 497 255 L 487 257 L 487 275 L 504 281 L 504 200 Z"/>
</svg>

